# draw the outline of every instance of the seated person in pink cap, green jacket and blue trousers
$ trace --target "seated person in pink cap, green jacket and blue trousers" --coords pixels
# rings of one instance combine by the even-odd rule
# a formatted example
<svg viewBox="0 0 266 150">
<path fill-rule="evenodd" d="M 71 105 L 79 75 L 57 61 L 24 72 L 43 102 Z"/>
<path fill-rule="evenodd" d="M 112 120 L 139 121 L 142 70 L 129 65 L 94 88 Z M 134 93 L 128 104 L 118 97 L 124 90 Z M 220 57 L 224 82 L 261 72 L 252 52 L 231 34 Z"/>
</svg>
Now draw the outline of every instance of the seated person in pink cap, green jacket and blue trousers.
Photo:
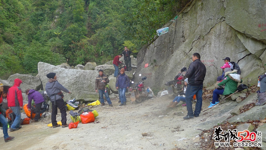
<svg viewBox="0 0 266 150">
<path fill-rule="evenodd" d="M 224 86 L 224 89 L 215 89 L 212 95 L 212 102 L 210 102 L 210 106 L 208 108 L 212 108 L 216 104 L 219 103 L 219 95 L 230 95 L 233 94 L 237 90 L 238 83 L 242 83 L 242 79 L 240 79 L 240 75 L 237 74 L 237 70 L 231 70 L 230 65 L 227 63 L 224 64 L 221 68 L 225 72 L 225 78 L 222 82 L 217 82 L 216 87 Z"/>
</svg>

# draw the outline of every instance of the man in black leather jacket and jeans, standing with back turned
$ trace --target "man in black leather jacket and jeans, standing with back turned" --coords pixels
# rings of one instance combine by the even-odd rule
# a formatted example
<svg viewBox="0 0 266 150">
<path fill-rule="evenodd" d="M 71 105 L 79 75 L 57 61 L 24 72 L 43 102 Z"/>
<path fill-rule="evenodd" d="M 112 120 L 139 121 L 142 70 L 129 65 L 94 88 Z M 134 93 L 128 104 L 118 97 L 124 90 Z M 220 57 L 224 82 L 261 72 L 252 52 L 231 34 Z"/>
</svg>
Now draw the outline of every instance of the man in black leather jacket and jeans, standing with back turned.
<svg viewBox="0 0 266 150">
<path fill-rule="evenodd" d="M 187 116 L 183 119 L 192 119 L 194 116 L 198 117 L 202 107 L 202 88 L 203 81 L 206 75 L 206 67 L 200 60 L 200 54 L 194 53 L 192 55 L 192 63 L 190 63 L 185 77 L 188 78 L 188 85 L 186 91 Z M 196 106 L 193 114 L 192 101 L 193 95 L 196 94 Z"/>
</svg>

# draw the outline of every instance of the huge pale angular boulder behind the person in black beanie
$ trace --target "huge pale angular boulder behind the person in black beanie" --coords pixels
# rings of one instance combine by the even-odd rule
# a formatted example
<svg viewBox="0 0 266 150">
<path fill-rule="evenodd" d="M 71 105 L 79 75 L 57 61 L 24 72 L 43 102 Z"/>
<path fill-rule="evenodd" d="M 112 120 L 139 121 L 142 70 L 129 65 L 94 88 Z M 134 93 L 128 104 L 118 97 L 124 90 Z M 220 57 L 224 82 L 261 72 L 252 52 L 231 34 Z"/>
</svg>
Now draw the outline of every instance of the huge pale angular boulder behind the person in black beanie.
<svg viewBox="0 0 266 150">
<path fill-rule="evenodd" d="M 39 62 L 38 72 L 43 83 L 43 89 L 48 82 L 46 75 L 50 72 L 56 73 L 58 82 L 71 92 L 71 94 L 64 93 L 64 100 L 75 98 L 87 103 L 99 98 L 99 94 L 95 92 L 95 77 L 99 74 L 98 71 L 64 69 Z"/>
</svg>

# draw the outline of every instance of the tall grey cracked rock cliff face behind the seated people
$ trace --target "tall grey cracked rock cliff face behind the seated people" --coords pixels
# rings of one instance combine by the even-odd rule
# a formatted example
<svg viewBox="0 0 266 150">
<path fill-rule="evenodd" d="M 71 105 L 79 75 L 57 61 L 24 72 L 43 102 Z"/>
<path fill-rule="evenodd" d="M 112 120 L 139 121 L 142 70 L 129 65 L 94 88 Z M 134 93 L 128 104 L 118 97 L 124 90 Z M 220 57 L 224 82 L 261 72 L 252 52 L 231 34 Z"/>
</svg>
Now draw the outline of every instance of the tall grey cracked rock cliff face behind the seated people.
<svg viewBox="0 0 266 150">
<path fill-rule="evenodd" d="M 147 76 L 150 87 L 166 88 L 163 84 L 188 67 L 197 52 L 207 68 L 205 86 L 222 74 L 225 57 L 238 63 L 245 84 L 256 84 L 266 68 L 265 7 L 261 0 L 194 0 L 165 25 L 168 33 L 139 52 L 137 72 Z"/>
</svg>

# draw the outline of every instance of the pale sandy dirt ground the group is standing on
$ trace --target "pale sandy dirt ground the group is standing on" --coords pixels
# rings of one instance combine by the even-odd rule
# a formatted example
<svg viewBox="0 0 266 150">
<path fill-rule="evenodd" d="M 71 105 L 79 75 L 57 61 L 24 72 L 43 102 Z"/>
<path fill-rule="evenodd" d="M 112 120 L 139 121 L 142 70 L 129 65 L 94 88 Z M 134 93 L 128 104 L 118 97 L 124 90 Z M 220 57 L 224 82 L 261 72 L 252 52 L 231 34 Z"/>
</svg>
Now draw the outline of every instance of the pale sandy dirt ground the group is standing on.
<svg viewBox="0 0 266 150">
<path fill-rule="evenodd" d="M 140 104 L 127 102 L 127 105 L 120 107 L 118 99 L 112 100 L 114 107 L 90 106 L 90 109 L 98 111 L 99 116 L 93 123 L 80 122 L 75 129 L 48 127 L 47 124 L 51 123 L 50 116 L 45 117 L 39 122 L 23 125 L 18 131 L 8 131 L 15 139 L 7 143 L 4 142 L 1 131 L 1 149 L 200 149 L 200 138 L 197 135 L 201 131 L 197 130 L 197 125 L 207 121 L 209 115 L 200 114 L 200 117 L 183 120 L 187 114 L 186 106 L 178 105 L 167 109 L 171 100 L 172 98 L 164 95 L 146 99 Z M 203 102 L 202 108 L 207 108 L 208 105 L 209 102 Z M 70 123 L 69 111 L 67 114 L 67 123 Z M 57 120 L 60 121 L 60 113 Z"/>
</svg>

